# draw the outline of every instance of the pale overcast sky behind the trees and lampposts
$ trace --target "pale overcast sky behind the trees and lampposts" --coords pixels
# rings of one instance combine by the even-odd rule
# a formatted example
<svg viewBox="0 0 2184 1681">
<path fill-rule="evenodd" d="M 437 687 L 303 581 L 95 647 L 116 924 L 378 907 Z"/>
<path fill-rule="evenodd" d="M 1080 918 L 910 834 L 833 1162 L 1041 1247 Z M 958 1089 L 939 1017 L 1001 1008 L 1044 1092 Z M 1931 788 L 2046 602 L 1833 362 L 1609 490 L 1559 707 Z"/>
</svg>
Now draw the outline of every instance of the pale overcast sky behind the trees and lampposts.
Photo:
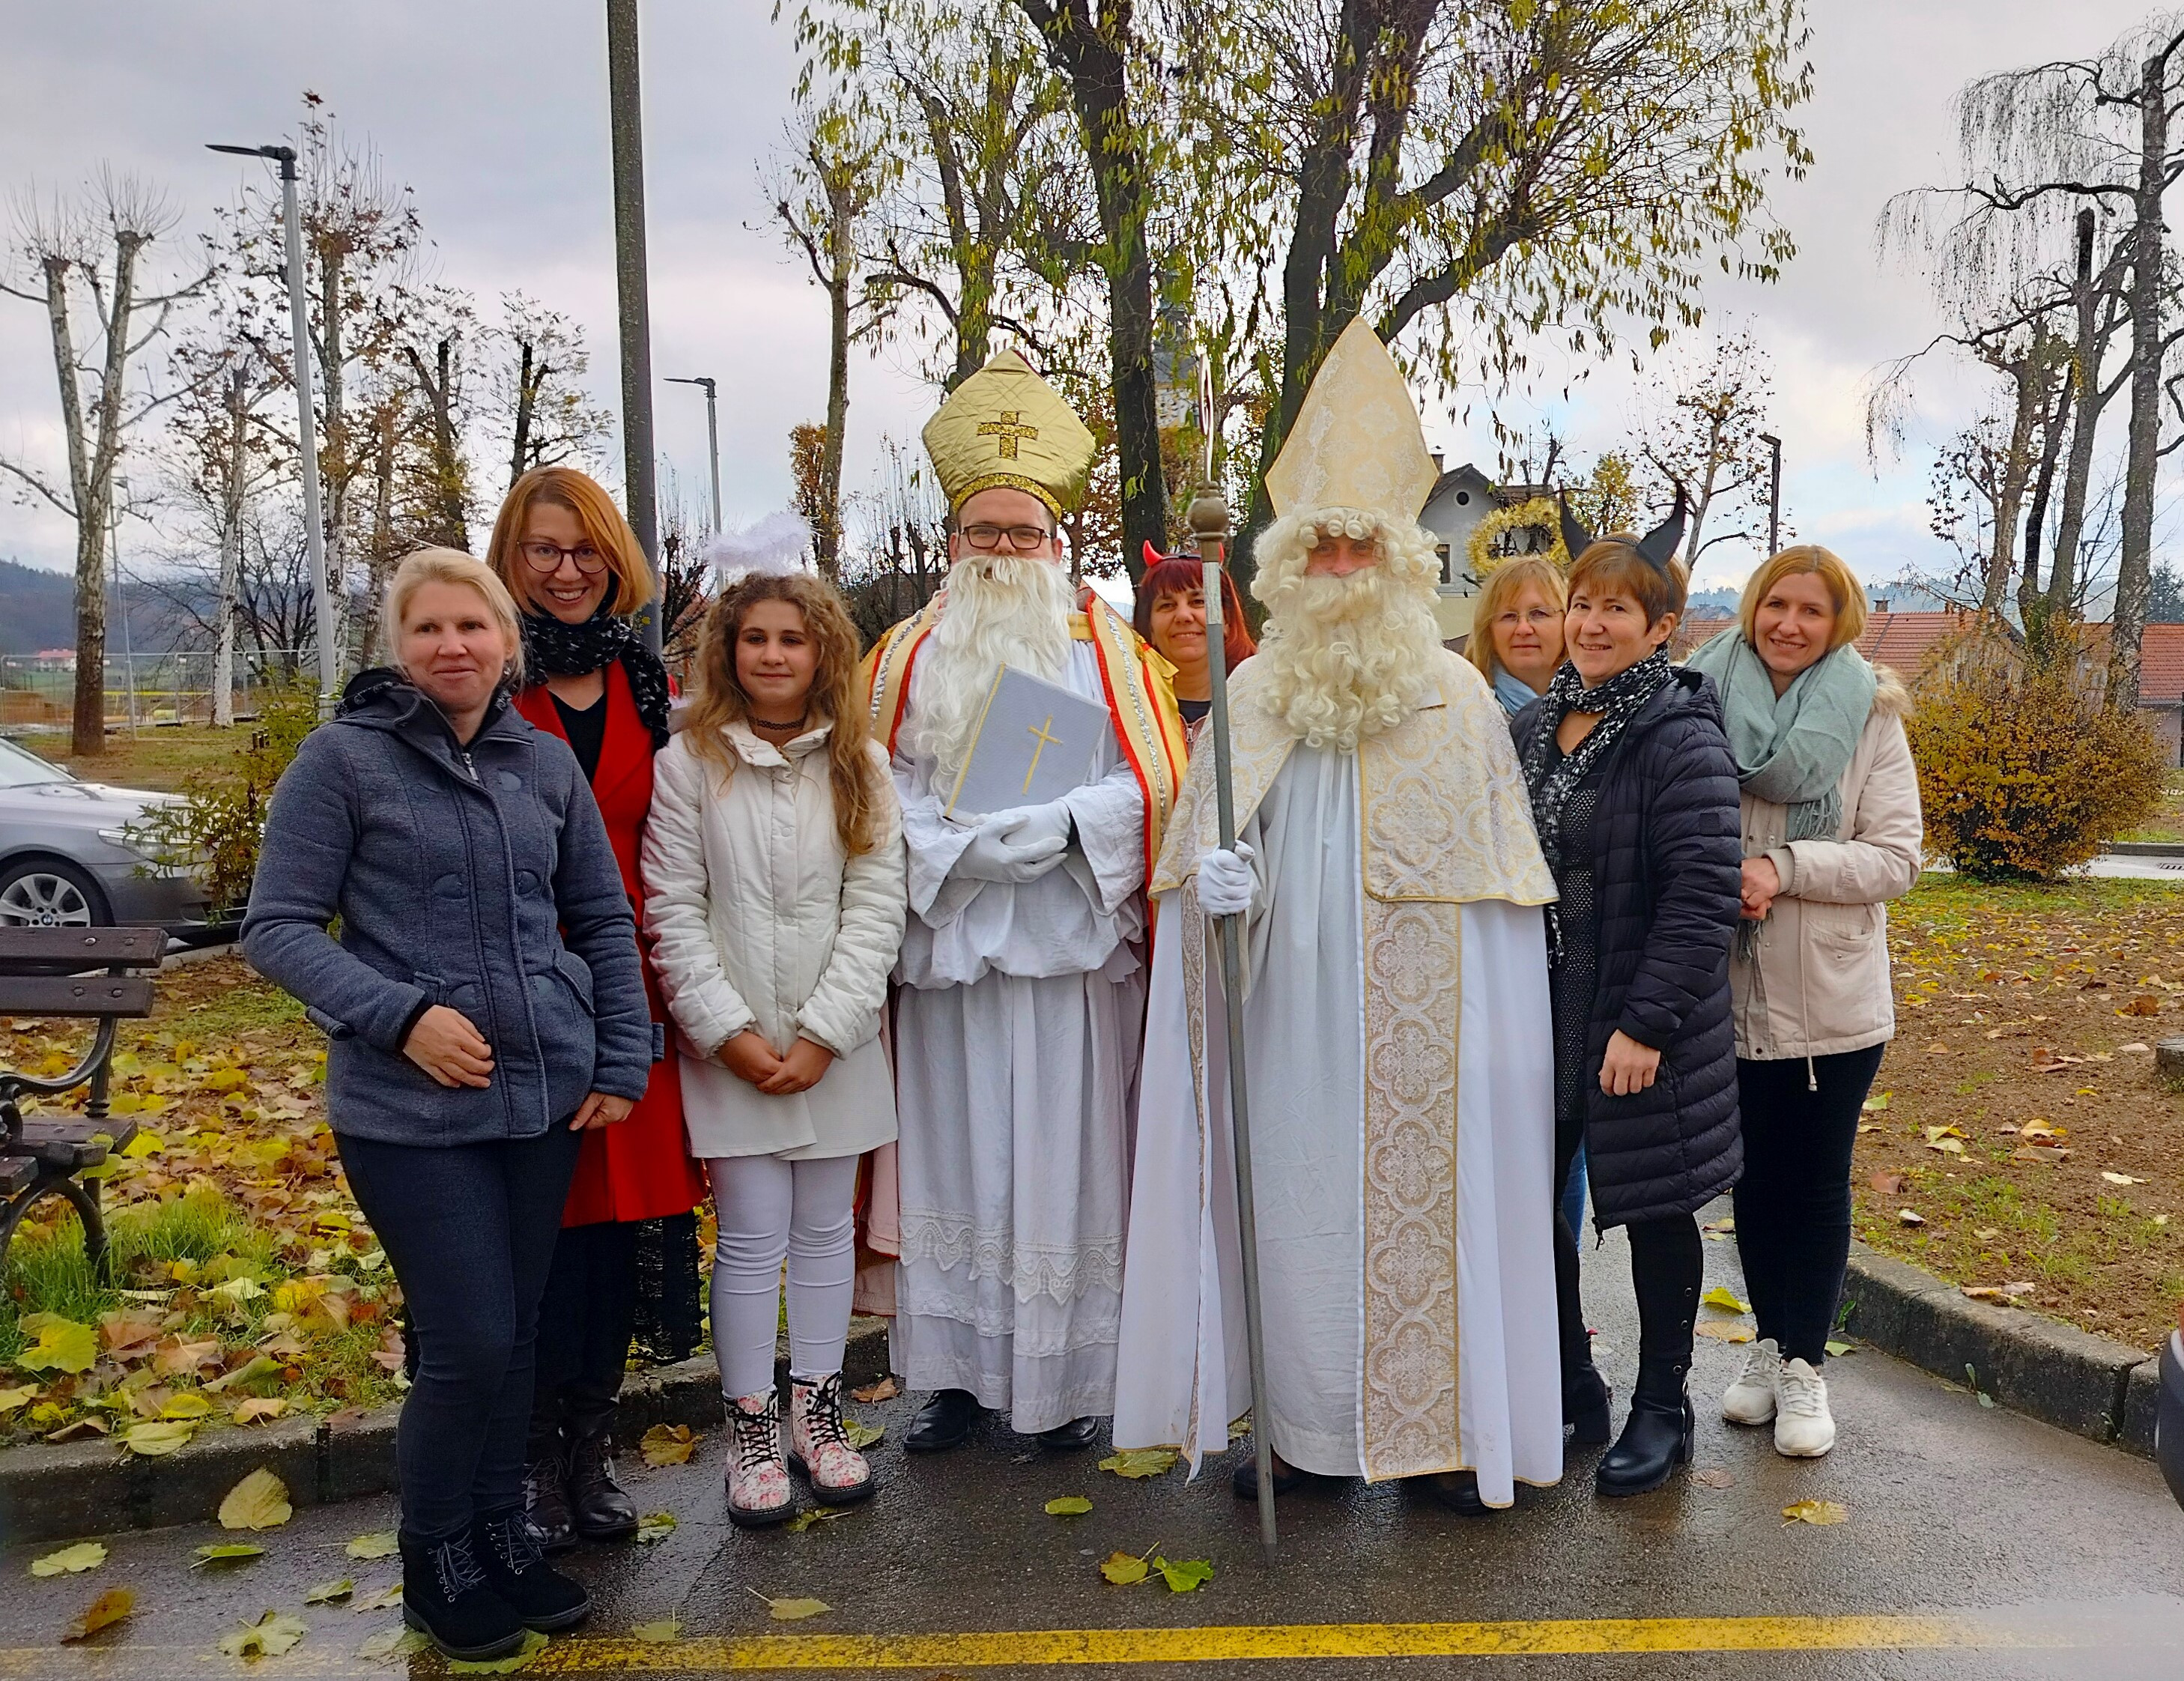
<svg viewBox="0 0 2184 1681">
<path fill-rule="evenodd" d="M 653 371 L 721 380 L 729 522 L 788 498 L 786 430 L 823 415 L 826 308 L 764 227 L 758 168 L 788 109 L 793 57 L 767 0 L 644 0 L 644 146 L 651 203 Z M 1918 275 L 1883 271 L 1872 223 L 1896 190 L 1955 175 L 1950 94 L 1970 76 L 2108 46 L 2147 13 L 2132 0 L 1811 0 L 1817 92 L 1802 111 L 1819 162 L 1776 199 L 1802 255 L 1778 286 L 1723 284 L 1710 308 L 1771 351 L 1784 502 L 1800 535 L 1867 579 L 1942 565 L 1926 535 L 1931 441 L 1970 417 L 1970 382 L 1939 382 L 1902 461 L 1865 456 L 1872 369 L 1924 343 L 1937 317 Z M 207 140 L 293 135 L 312 87 L 408 181 L 439 275 L 489 299 L 522 286 L 579 317 L 594 384 L 614 382 L 614 269 L 603 7 L 598 0 L 0 0 L 0 186 L 66 186 L 98 162 L 162 183 L 183 231 L 236 194 L 238 159 Z M 245 164 L 242 168 L 256 168 Z M 181 255 L 181 236 L 170 255 Z M 1579 450 L 1610 448 L 1629 380 L 1594 375 L 1553 415 Z M 1492 469 L 1485 404 L 1465 432 L 1428 413 L 1452 461 Z M 852 365 L 845 487 L 871 480 L 882 437 L 909 439 L 928 393 L 893 358 Z M 662 454 L 703 480 L 703 397 L 662 384 Z M 2121 406 L 2112 421 L 2121 430 Z M 0 450 L 59 465 L 44 312 L 0 297 Z M 0 502 L 0 557 L 68 565 L 50 511 Z M 1749 561 L 1701 563 L 1701 581 Z"/>
</svg>

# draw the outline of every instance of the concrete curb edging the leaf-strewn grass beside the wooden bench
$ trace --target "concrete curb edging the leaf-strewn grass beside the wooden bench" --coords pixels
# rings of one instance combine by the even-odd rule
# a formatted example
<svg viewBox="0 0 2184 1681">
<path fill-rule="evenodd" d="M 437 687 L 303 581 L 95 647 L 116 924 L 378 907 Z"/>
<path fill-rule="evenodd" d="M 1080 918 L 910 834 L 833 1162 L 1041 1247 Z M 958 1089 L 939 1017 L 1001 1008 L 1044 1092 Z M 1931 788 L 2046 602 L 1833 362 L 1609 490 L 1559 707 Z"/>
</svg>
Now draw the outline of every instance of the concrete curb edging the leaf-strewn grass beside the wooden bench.
<svg viewBox="0 0 2184 1681">
<path fill-rule="evenodd" d="M 887 1375 L 887 1321 L 850 1321 L 843 1378 L 852 1388 Z M 786 1349 L 775 1362 L 786 1386 Z M 347 1419 L 288 1419 L 205 1430 L 162 1458 L 135 1458 L 111 1441 L 0 1447 L 0 1546 L 68 1541 L 124 1528 L 201 1524 L 260 1465 L 288 1485 L 288 1500 L 317 1506 L 395 1489 L 395 1423 L 402 1404 Z M 721 1373 L 712 1356 L 636 1373 L 622 1384 L 616 1439 L 622 1454 L 655 1423 L 716 1428 Z"/>
</svg>

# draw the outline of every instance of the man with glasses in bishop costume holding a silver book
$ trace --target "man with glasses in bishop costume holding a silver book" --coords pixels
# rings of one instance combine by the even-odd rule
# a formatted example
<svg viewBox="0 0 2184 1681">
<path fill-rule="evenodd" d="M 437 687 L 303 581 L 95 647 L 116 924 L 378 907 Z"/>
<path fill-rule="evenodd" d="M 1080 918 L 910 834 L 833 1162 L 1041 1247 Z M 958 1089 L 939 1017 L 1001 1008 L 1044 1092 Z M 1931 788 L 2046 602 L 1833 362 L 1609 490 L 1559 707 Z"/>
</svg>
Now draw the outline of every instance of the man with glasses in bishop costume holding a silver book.
<svg viewBox="0 0 2184 1681">
<path fill-rule="evenodd" d="M 930 1399 L 902 1445 L 954 1447 L 994 1408 L 1046 1447 L 1085 1447 L 1114 1410 L 1144 880 L 1184 731 L 1160 657 L 1070 587 L 1057 530 L 1094 439 L 1059 393 L 1000 351 L 924 441 L 950 509 L 948 583 L 871 655 L 911 873 L 891 1351 Z M 1090 768 L 1042 803 L 965 812 L 996 738 L 1029 740 L 1029 788 L 1057 734 L 998 716 L 1002 668 L 1081 696 Z"/>
</svg>

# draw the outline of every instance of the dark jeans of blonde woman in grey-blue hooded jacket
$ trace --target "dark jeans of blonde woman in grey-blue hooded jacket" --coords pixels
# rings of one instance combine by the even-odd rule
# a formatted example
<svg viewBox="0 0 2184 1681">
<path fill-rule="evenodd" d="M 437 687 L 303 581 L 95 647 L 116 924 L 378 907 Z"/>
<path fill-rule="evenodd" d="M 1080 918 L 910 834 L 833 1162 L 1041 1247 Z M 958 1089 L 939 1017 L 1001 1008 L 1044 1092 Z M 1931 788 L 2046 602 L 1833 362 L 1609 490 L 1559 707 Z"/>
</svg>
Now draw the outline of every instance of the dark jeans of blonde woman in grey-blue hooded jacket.
<svg viewBox="0 0 2184 1681">
<path fill-rule="evenodd" d="M 555 1126 L 505 1144 L 336 1142 L 417 1343 L 395 1439 L 402 1528 L 437 1541 L 524 1500 L 539 1295 L 579 1135 Z"/>
</svg>

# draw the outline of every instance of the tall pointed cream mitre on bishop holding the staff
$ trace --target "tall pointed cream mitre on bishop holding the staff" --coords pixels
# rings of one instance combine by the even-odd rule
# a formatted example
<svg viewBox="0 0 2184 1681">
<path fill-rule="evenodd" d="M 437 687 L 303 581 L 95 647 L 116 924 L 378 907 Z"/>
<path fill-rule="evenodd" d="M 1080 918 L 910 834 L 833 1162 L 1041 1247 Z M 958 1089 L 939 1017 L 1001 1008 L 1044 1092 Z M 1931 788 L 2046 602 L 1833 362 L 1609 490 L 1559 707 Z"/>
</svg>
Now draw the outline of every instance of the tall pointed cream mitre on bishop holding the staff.
<svg viewBox="0 0 2184 1681">
<path fill-rule="evenodd" d="M 1358 509 L 1409 526 L 1437 478 L 1402 369 L 1372 327 L 1352 321 L 1267 472 L 1273 511 Z"/>
</svg>

